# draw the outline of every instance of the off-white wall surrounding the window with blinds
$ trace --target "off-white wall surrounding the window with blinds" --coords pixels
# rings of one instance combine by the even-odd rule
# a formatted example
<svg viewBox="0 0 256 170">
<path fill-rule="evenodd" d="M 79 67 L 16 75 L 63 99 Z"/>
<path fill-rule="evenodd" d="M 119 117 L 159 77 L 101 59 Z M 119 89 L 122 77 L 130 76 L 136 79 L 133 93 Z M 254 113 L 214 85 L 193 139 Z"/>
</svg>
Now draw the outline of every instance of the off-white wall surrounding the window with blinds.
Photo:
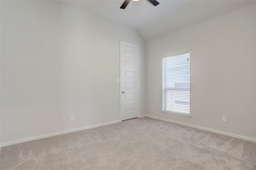
<svg viewBox="0 0 256 170">
<path fill-rule="evenodd" d="M 256 138 L 255 9 L 253 4 L 146 43 L 146 113 Z M 162 57 L 185 50 L 190 50 L 190 119 L 161 113 Z"/>
</svg>

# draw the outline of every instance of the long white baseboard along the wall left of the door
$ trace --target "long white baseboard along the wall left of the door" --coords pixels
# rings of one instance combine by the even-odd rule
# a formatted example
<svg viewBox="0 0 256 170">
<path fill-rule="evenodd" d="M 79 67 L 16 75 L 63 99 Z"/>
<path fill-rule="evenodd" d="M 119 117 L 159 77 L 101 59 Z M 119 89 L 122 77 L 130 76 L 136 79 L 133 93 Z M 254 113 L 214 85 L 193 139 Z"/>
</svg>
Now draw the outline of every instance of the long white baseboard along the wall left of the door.
<svg viewBox="0 0 256 170">
<path fill-rule="evenodd" d="M 101 124 L 98 124 L 98 125 L 92 125 L 92 126 L 88 126 L 88 127 L 74 128 L 74 129 L 64 130 L 64 131 L 60 131 L 60 132 L 53 132 L 53 133 L 43 134 L 43 135 L 39 135 L 39 136 L 33 136 L 33 137 L 30 137 L 30 138 L 23 138 L 23 139 L 18 139 L 18 140 L 12 140 L 10 142 L 3 142 L 3 143 L 0 144 L 0 146 L 3 147 L 3 146 L 12 145 L 12 144 L 27 142 L 27 141 L 30 141 L 30 140 L 48 138 L 48 137 L 51 137 L 51 136 L 57 136 L 57 135 L 60 135 L 60 134 L 76 132 L 76 131 L 79 131 L 79 130 L 85 130 L 85 129 L 89 129 L 89 128 L 102 127 L 102 126 L 105 126 L 105 125 L 111 125 L 111 124 L 119 123 L 119 122 L 122 122 L 122 121 L 121 120 L 112 121 L 112 122 L 101 123 Z"/>
</svg>

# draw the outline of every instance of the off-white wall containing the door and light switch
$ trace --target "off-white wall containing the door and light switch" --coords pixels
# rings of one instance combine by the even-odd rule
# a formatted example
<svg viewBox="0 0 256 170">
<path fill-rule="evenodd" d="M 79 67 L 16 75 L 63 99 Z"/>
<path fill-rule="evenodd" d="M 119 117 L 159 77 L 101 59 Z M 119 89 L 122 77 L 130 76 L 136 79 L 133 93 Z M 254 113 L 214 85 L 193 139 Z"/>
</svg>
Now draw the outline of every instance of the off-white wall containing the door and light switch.
<svg viewBox="0 0 256 170">
<path fill-rule="evenodd" d="M 1 1 L 1 143 L 120 120 L 120 40 L 140 45 L 144 115 L 136 31 L 58 2 Z"/>
</svg>

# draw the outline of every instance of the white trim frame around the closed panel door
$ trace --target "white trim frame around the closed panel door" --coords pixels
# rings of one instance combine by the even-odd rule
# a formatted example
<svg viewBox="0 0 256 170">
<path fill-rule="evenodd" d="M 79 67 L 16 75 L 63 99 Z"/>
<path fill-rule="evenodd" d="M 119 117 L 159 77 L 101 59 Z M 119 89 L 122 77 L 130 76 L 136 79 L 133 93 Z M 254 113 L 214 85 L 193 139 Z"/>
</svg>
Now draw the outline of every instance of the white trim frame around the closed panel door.
<svg viewBox="0 0 256 170">
<path fill-rule="evenodd" d="M 122 93 L 121 93 L 121 44 L 131 45 L 134 47 L 138 47 L 138 117 L 140 117 L 140 45 L 123 42 L 119 43 L 119 77 L 120 77 L 120 85 L 119 85 L 119 93 L 120 93 L 120 120 L 122 121 Z"/>
</svg>

